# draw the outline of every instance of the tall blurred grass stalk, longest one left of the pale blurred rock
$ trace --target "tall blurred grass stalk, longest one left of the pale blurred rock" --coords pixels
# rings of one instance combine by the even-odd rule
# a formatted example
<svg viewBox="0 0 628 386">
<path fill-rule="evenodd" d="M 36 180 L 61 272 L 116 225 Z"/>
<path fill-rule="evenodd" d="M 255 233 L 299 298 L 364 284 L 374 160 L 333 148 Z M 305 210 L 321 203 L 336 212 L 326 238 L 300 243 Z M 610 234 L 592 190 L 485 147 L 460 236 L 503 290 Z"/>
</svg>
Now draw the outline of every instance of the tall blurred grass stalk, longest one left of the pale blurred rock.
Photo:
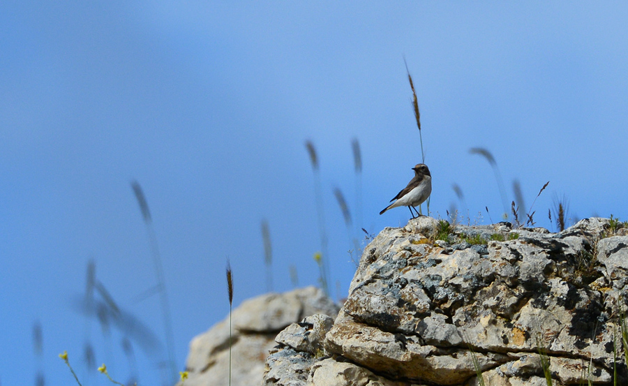
<svg viewBox="0 0 628 386">
<path fill-rule="evenodd" d="M 144 195 L 144 191 L 142 191 L 142 186 L 140 186 L 137 181 L 132 181 L 131 188 L 133 188 L 133 193 L 135 193 L 135 198 L 137 198 L 137 204 L 140 205 L 140 211 L 142 211 L 144 224 L 146 224 L 147 232 L 149 235 L 149 244 L 151 248 L 151 255 L 153 256 L 153 262 L 155 265 L 161 310 L 163 314 L 163 325 L 165 328 L 168 364 L 170 367 L 170 380 L 174 383 L 174 381 L 177 379 L 177 364 L 174 359 L 174 333 L 172 331 L 172 317 L 170 314 L 170 304 L 168 302 L 168 295 L 166 292 L 163 264 L 161 262 L 161 255 L 159 253 L 159 248 L 157 245 L 157 235 L 155 232 L 155 228 L 153 227 L 153 219 L 148 207 L 146 196 Z"/>
</svg>

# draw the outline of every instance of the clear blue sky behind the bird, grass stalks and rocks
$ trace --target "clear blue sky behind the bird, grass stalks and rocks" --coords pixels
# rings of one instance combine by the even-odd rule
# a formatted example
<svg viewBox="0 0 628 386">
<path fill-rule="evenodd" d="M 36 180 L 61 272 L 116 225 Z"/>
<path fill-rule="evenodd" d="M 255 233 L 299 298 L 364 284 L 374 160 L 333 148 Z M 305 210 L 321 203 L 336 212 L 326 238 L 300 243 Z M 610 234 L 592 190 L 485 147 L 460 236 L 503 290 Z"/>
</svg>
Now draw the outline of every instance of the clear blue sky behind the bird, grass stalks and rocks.
<svg viewBox="0 0 628 386">
<path fill-rule="evenodd" d="M 165 267 L 177 366 L 188 343 L 234 303 L 266 290 L 260 221 L 269 221 L 275 290 L 317 283 L 314 179 L 320 158 L 334 297 L 354 272 L 340 188 L 357 206 L 351 140 L 364 171 L 356 228 L 380 216 L 421 159 L 403 59 L 419 95 L 431 210 L 455 204 L 498 221 L 491 151 L 507 200 L 552 229 L 555 197 L 571 218 L 628 218 L 628 6 L 622 2 L 4 1 L 0 4 L 0 364 L 2 385 L 105 384 L 81 362 L 84 342 L 114 378 L 130 369 L 114 330 L 73 309 L 87 262 L 123 307 L 163 339 L 149 241 L 130 181 L 147 196 Z M 461 186 L 464 202 L 451 188 Z M 523 212 L 527 211 L 523 210 Z M 481 213 L 481 215 L 478 215 Z M 356 232 L 357 234 L 357 232 Z M 361 236 L 360 236 L 361 237 Z M 336 283 L 340 293 L 336 294 Z M 43 359 L 31 332 L 43 329 Z M 140 385 L 160 382 L 136 348 Z M 89 378 L 91 377 L 91 378 Z"/>
</svg>

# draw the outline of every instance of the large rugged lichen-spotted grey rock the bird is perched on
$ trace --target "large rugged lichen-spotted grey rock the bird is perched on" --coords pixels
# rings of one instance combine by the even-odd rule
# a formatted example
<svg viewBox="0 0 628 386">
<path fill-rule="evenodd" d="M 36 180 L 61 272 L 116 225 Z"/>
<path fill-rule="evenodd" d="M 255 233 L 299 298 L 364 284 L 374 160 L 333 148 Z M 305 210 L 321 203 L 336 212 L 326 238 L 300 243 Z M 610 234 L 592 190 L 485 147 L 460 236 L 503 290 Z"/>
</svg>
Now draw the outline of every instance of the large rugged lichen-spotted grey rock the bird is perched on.
<svg viewBox="0 0 628 386">
<path fill-rule="evenodd" d="M 386 228 L 333 327 L 322 337 L 329 324 L 310 318 L 285 329 L 263 385 L 470 386 L 478 372 L 491 386 L 546 385 L 546 375 L 613 385 L 615 368 L 628 385 L 628 233 L 618 228 L 604 218 L 551 233 L 429 217 Z"/>
</svg>

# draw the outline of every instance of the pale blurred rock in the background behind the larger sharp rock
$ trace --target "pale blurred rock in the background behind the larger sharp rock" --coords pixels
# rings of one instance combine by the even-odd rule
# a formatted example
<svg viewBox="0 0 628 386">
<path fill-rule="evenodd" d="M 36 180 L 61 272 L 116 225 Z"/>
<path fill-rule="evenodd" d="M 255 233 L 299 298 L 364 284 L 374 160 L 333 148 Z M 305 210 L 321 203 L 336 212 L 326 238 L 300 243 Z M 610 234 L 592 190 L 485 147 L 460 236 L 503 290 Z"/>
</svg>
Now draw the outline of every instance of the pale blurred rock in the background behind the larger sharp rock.
<svg viewBox="0 0 628 386">
<path fill-rule="evenodd" d="M 231 385 L 260 385 L 264 361 L 276 345 L 278 332 L 315 313 L 334 317 L 338 313 L 338 306 L 315 287 L 261 295 L 234 309 Z M 327 325 L 331 327 L 329 319 Z M 228 316 L 192 340 L 186 371 L 186 386 L 229 385 Z"/>
</svg>

